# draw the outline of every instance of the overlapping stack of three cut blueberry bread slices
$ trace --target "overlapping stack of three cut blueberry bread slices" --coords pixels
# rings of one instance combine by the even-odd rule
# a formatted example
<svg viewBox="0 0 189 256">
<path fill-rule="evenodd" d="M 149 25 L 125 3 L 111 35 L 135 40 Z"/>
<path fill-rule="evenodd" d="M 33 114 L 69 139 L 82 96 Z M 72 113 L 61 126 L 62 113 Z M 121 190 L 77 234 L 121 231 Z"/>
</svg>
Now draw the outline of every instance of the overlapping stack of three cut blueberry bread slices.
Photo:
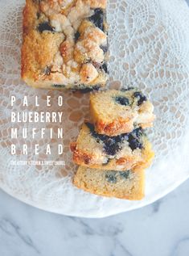
<svg viewBox="0 0 189 256">
<path fill-rule="evenodd" d="M 73 161 L 80 165 L 73 184 L 96 195 L 142 199 L 145 169 L 154 157 L 146 136 L 153 111 L 134 88 L 91 94 L 91 121 L 71 144 Z"/>
</svg>

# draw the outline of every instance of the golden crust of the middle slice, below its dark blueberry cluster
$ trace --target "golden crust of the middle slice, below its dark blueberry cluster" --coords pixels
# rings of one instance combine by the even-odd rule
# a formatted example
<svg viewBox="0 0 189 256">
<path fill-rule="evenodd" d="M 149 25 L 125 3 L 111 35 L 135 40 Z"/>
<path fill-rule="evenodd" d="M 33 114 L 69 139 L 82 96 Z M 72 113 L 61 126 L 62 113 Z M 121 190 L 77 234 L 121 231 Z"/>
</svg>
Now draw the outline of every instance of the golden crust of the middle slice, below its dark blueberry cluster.
<svg viewBox="0 0 189 256">
<path fill-rule="evenodd" d="M 99 148 L 100 147 L 100 148 Z M 127 145 L 114 156 L 107 155 L 103 145 L 97 143 L 84 124 L 77 141 L 71 144 L 73 162 L 80 166 L 104 170 L 142 170 L 150 166 L 154 158 L 150 141 L 143 138 L 143 149 L 131 152 Z"/>
</svg>

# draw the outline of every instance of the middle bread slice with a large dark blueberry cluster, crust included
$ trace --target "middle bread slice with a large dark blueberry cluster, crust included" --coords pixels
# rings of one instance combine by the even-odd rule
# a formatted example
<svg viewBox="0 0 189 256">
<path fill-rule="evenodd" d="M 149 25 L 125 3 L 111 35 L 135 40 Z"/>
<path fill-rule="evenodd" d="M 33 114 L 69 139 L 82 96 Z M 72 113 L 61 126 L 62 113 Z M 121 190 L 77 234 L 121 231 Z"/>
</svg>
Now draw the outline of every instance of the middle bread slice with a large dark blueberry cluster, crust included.
<svg viewBox="0 0 189 256">
<path fill-rule="evenodd" d="M 143 169 L 154 157 L 142 128 L 110 137 L 98 134 L 93 124 L 85 123 L 71 149 L 76 164 L 104 170 Z"/>
</svg>

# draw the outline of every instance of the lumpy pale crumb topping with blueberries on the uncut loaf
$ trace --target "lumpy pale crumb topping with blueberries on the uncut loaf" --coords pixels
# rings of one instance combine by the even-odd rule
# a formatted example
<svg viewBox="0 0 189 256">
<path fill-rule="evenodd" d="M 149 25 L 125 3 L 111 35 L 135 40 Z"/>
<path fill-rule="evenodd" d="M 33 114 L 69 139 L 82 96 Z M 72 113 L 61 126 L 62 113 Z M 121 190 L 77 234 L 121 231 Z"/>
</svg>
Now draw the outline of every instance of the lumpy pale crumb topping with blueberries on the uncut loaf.
<svg viewBox="0 0 189 256">
<path fill-rule="evenodd" d="M 31 6 L 31 1 L 27 0 L 25 10 Z M 51 57 L 51 63 L 41 66 L 41 72 L 44 72 L 40 78 L 65 86 L 105 83 L 107 68 L 103 68 L 103 48 L 107 48 L 107 35 L 101 28 L 105 23 L 106 0 L 41 0 L 33 1 L 33 5 L 36 19 L 32 30 L 39 34 L 37 37 L 50 33 L 52 38 L 56 34 L 62 35 L 59 50 Z M 99 10 L 104 19 L 101 19 Z M 101 28 L 97 22 L 101 23 Z M 35 62 L 38 62 L 37 57 Z"/>
</svg>

